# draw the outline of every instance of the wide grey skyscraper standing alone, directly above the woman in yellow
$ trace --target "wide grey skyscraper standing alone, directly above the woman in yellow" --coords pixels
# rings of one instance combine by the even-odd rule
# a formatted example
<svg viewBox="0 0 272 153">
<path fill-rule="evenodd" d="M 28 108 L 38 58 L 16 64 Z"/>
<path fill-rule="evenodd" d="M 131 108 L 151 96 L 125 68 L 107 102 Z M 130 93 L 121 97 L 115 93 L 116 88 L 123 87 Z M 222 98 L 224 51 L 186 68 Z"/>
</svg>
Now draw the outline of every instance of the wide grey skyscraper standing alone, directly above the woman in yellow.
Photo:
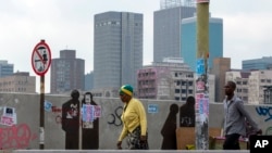
<svg viewBox="0 0 272 153">
<path fill-rule="evenodd" d="M 143 14 L 104 12 L 95 15 L 94 89 L 136 88 L 143 67 Z"/>
</svg>

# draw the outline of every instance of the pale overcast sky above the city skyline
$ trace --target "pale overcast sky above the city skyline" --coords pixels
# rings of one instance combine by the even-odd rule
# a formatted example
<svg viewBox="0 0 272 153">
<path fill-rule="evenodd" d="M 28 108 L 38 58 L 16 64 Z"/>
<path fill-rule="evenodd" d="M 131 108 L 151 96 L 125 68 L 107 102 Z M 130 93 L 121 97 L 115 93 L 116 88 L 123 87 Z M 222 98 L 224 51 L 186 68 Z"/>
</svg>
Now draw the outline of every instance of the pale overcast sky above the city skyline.
<svg viewBox="0 0 272 153">
<path fill-rule="evenodd" d="M 210 0 L 211 16 L 223 18 L 223 55 L 232 59 L 232 68 L 242 68 L 243 60 L 272 56 L 271 8 L 272 0 Z M 53 59 L 60 50 L 74 49 L 89 73 L 94 68 L 94 15 L 124 11 L 144 14 L 147 65 L 153 58 L 152 21 L 158 10 L 160 0 L 0 0 L 0 60 L 14 64 L 15 72 L 36 75 L 32 52 L 45 39 Z"/>
</svg>

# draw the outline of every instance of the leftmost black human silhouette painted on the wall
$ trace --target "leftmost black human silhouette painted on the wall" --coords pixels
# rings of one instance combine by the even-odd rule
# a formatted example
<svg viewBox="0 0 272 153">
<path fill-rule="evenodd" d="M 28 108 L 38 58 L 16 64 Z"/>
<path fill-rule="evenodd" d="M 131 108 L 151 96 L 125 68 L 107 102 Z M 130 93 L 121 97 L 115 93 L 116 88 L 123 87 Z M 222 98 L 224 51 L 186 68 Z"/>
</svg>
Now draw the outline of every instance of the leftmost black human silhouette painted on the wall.
<svg viewBox="0 0 272 153">
<path fill-rule="evenodd" d="M 65 149 L 78 150 L 79 144 L 79 92 L 73 90 L 72 99 L 62 104 L 62 129 L 65 131 Z"/>
</svg>

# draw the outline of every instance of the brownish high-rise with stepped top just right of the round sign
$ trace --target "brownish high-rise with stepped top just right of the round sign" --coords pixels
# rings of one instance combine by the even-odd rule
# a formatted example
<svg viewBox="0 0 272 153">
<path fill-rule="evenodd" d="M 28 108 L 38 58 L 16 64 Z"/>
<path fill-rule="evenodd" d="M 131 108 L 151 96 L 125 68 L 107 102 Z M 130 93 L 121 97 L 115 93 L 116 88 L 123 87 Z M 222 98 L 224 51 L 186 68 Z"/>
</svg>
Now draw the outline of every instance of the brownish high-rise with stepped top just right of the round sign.
<svg viewBox="0 0 272 153">
<path fill-rule="evenodd" d="M 59 59 L 51 63 L 51 93 L 70 93 L 84 90 L 85 61 L 76 59 L 75 50 L 61 50 Z"/>
</svg>

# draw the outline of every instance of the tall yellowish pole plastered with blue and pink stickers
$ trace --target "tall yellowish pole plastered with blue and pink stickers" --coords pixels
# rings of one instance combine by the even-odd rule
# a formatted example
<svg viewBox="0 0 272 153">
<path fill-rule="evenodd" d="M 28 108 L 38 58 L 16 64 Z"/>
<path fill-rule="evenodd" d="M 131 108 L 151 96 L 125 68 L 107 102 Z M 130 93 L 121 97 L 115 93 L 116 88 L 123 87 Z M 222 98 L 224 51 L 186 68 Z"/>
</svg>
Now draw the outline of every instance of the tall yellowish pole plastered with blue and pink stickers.
<svg viewBox="0 0 272 153">
<path fill-rule="evenodd" d="M 209 0 L 197 0 L 196 149 L 209 149 Z"/>
</svg>

